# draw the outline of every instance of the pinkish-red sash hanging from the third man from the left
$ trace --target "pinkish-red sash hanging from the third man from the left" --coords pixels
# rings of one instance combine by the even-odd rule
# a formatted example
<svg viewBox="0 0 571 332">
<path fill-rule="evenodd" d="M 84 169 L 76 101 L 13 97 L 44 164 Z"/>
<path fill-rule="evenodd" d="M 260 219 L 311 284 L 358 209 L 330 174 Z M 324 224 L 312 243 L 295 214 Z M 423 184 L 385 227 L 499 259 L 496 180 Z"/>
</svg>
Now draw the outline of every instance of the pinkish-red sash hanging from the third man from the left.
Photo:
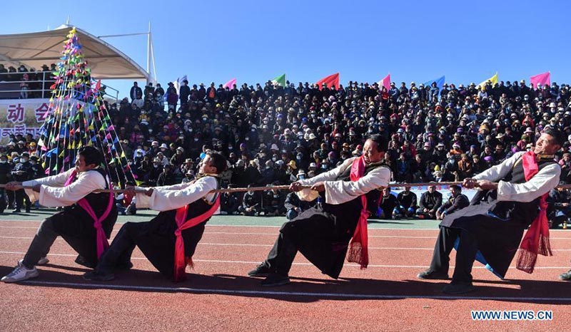
<svg viewBox="0 0 571 332">
<path fill-rule="evenodd" d="M 351 165 L 350 179 L 351 181 L 357 181 L 365 174 L 365 160 L 363 156 L 358 157 L 353 160 L 353 165 Z M 355 232 L 353 233 L 353 238 L 349 243 L 349 254 L 347 256 L 347 261 L 358 263 L 361 269 L 366 269 L 369 264 L 369 253 L 368 253 L 368 235 L 367 235 L 367 218 L 369 217 L 369 212 L 367 211 L 367 197 L 364 194 L 361 195 L 361 204 L 363 205 L 359 220 L 357 222 L 357 227 L 355 227 Z"/>
</svg>

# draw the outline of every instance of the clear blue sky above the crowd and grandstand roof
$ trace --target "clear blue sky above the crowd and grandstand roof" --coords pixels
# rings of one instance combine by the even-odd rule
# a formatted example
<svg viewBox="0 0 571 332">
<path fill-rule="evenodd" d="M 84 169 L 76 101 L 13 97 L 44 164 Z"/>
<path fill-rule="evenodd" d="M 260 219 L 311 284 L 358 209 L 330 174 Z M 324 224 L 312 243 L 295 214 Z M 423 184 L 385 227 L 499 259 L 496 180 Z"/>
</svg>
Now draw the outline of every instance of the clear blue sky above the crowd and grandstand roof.
<svg viewBox="0 0 571 332">
<path fill-rule="evenodd" d="M 186 4 L 185 2 L 188 2 Z M 90 7 L 86 7 L 88 4 Z M 569 1 L 16 1 L 0 33 L 70 24 L 95 36 L 145 32 L 158 82 L 263 83 L 281 73 L 315 82 L 480 83 L 551 71 L 571 82 Z M 108 38 L 146 67 L 146 37 Z M 131 81 L 107 82 L 128 95 Z"/>
</svg>

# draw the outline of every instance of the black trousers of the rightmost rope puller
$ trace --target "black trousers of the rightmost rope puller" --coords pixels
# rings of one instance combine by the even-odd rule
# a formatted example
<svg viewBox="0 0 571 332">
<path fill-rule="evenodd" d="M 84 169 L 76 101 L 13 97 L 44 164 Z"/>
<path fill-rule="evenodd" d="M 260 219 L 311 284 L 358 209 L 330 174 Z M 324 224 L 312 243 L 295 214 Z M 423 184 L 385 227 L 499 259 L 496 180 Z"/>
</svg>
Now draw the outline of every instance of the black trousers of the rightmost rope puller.
<svg viewBox="0 0 571 332">
<path fill-rule="evenodd" d="M 448 273 L 450 267 L 450 252 L 454 249 L 456 239 L 460 244 L 456 251 L 456 263 L 453 283 L 472 282 L 472 266 L 477 253 L 477 240 L 470 232 L 459 228 L 440 227 L 440 234 L 434 247 L 433 260 L 430 270 Z"/>
</svg>

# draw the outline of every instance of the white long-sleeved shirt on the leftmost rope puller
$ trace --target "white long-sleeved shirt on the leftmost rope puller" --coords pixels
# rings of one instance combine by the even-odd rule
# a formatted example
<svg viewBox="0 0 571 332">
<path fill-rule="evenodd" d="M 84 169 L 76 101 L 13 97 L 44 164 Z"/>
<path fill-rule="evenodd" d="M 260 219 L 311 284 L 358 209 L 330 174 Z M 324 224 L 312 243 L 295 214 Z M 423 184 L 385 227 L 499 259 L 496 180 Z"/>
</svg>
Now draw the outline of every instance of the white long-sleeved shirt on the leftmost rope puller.
<svg viewBox="0 0 571 332">
<path fill-rule="evenodd" d="M 26 194 L 32 202 L 39 200 L 39 203 L 44 207 L 67 207 L 75 204 L 94 190 L 105 189 L 106 187 L 103 176 L 94 171 L 79 172 L 77 180 L 64 187 L 72 172 L 74 172 L 73 168 L 59 175 L 24 181 L 22 185 L 30 187 L 41 185 L 40 192 L 26 189 Z"/>
</svg>

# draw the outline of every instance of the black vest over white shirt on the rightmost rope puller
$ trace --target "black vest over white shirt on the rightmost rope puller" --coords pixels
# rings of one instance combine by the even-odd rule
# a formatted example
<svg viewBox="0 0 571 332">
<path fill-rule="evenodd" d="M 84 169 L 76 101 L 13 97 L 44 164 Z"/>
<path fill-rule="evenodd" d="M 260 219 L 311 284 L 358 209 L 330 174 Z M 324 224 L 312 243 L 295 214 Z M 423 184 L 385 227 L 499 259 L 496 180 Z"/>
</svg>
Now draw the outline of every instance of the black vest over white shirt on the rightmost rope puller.
<svg viewBox="0 0 571 332">
<path fill-rule="evenodd" d="M 555 160 L 545 159 L 537 162 L 538 172 L 546 167 L 552 165 Z M 514 184 L 525 183 L 525 173 L 523 171 L 522 157 L 515 162 L 512 170 L 502 179 L 502 181 Z M 521 222 L 525 226 L 529 226 L 537 214 L 539 213 L 540 198 L 536 198 L 531 202 L 498 202 L 497 190 L 492 190 L 488 197 L 488 202 L 493 202 L 490 212 L 497 215 L 502 219 L 513 219 Z"/>
</svg>

